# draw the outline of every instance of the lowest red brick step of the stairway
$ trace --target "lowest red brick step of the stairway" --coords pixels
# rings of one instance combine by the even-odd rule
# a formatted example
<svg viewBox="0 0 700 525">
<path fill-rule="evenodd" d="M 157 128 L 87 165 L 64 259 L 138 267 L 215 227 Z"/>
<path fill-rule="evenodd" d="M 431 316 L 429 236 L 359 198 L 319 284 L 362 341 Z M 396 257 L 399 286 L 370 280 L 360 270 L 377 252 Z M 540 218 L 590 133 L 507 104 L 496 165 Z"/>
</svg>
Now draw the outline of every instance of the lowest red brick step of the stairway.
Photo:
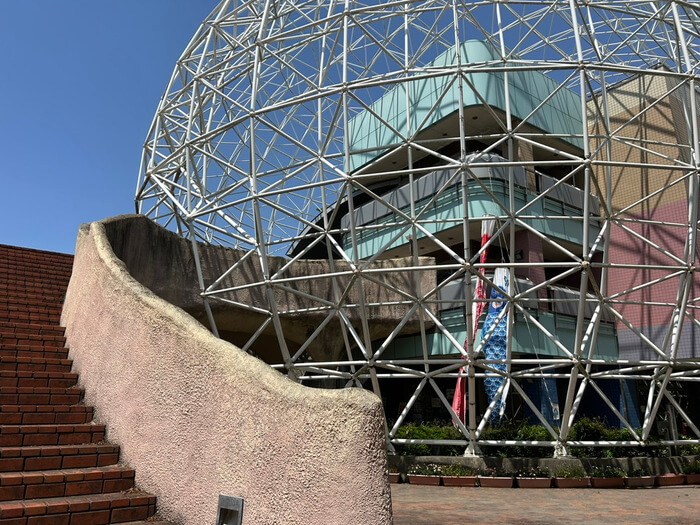
<svg viewBox="0 0 700 525">
<path fill-rule="evenodd" d="M 156 497 L 139 490 L 0 503 L 3 525 L 100 525 L 145 520 Z M 24 520 L 24 521 L 22 521 Z"/>
</svg>

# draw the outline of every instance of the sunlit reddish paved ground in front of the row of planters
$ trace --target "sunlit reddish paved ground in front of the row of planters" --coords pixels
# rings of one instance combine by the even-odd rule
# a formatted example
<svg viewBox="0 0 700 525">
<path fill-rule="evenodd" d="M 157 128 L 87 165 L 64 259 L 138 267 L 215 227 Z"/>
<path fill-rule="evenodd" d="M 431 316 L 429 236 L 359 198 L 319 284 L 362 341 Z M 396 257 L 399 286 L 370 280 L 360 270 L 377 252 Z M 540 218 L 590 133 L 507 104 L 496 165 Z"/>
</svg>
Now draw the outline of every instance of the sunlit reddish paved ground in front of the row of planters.
<svg viewBox="0 0 700 525">
<path fill-rule="evenodd" d="M 421 523 L 700 524 L 700 486 L 489 489 L 391 486 L 395 525 Z"/>
</svg>

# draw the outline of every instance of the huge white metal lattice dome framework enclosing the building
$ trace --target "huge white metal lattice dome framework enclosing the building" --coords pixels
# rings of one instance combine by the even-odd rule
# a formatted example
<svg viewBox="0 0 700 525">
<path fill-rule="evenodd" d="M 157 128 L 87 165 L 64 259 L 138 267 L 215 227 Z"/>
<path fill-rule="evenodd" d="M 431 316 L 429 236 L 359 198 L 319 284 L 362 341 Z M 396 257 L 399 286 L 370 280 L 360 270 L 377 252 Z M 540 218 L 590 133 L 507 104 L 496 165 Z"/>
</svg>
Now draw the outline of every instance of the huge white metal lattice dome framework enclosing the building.
<svg viewBox="0 0 700 525">
<path fill-rule="evenodd" d="M 475 41 L 487 50 L 477 60 L 468 44 Z M 296 380 L 335 379 L 386 397 L 392 394 L 384 385 L 405 379 L 412 393 L 387 429 L 390 449 L 432 443 L 395 438 L 425 392 L 440 400 L 436 411 L 455 419 L 446 385 L 463 366 L 464 439 L 450 443 L 467 454 L 479 445 L 549 445 L 556 455 L 572 445 L 648 445 L 667 406 L 690 439 L 656 444 L 699 444 L 700 422 L 677 395 L 700 381 L 700 350 L 692 345 L 700 329 L 699 67 L 700 7 L 687 1 L 226 0 L 186 47 L 160 101 L 144 146 L 137 211 L 191 239 L 195 257 L 198 243 L 244 254 L 213 282 L 198 266 L 215 332 L 212 306 L 230 304 L 263 319 L 243 348 L 273 330 L 280 356 L 273 366 Z M 521 93 L 519 79 L 554 87 L 527 106 L 531 94 Z M 433 95 L 416 94 L 426 86 Z M 552 124 L 558 118 L 563 127 Z M 652 128 L 656 134 L 644 131 Z M 490 178 L 479 175 L 484 169 Z M 419 181 L 436 170 L 446 179 L 418 195 Z M 381 189 L 398 180 L 403 186 Z M 459 216 L 433 214 L 455 185 Z M 403 207 L 395 199 L 400 188 L 409 196 Z M 580 208 L 559 198 L 564 190 L 583 196 Z M 477 194 L 496 232 L 475 247 L 486 216 L 470 207 Z M 555 211 L 553 204 L 569 207 Z M 369 205 L 388 219 L 363 222 L 360 211 Z M 555 226 L 575 232 L 551 233 Z M 457 241 L 448 242 L 448 233 Z M 373 235 L 378 240 L 366 240 Z M 531 250 L 535 244 L 544 255 Z M 488 248 L 500 260 L 480 262 Z M 279 268 L 275 257 L 287 262 Z M 397 257 L 405 261 L 401 271 L 443 277 L 428 289 L 398 289 L 385 279 L 395 268 L 374 266 Z M 286 272 L 324 258 L 333 300 Z M 262 275 L 239 288 L 262 290 L 265 304 L 231 300 L 236 290 L 225 286 L 248 259 Z M 497 267 L 510 274 L 504 295 L 511 312 L 507 358 L 498 362 L 482 354 L 488 334 L 475 340 L 467 329 L 459 340 L 440 315 L 445 291 L 463 286 L 450 307 L 458 303 L 471 327 L 473 283 L 493 286 Z M 519 288 L 523 282 L 527 289 Z M 371 325 L 382 304 L 362 293 L 373 285 L 405 308 L 381 337 Z M 359 289 L 357 300 L 351 287 Z M 305 307 L 285 311 L 277 291 L 296 294 Z M 568 338 L 543 321 L 550 311 L 563 320 L 565 310 Z M 323 320 L 292 347 L 281 320 L 304 311 Z M 554 354 L 522 351 L 517 323 Z M 409 324 L 418 354 L 387 357 Z M 614 359 L 599 355 L 601 327 L 614 327 L 630 350 Z M 342 335 L 343 357 L 310 360 L 305 350 L 331 328 Z M 448 347 L 441 354 L 431 354 L 436 337 Z M 499 395 L 519 396 L 549 441 L 481 438 L 498 398 L 479 402 L 477 390 L 491 374 L 504 378 Z M 563 385 L 557 424 L 523 386 L 545 374 Z M 639 427 L 611 400 L 610 381 L 639 385 Z M 572 441 L 571 426 L 591 394 L 631 440 Z"/>
</svg>

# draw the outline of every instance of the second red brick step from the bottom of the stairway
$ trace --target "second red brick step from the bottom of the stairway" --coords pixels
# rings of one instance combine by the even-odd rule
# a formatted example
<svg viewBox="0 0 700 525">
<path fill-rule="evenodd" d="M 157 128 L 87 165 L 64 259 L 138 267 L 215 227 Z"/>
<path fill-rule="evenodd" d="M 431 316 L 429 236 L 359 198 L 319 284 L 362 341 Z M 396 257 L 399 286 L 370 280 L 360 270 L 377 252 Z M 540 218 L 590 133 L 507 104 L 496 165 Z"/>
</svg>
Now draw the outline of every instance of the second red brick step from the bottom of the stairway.
<svg viewBox="0 0 700 525">
<path fill-rule="evenodd" d="M 0 501 L 106 494 L 134 486 L 133 469 L 122 466 L 0 474 Z"/>
</svg>

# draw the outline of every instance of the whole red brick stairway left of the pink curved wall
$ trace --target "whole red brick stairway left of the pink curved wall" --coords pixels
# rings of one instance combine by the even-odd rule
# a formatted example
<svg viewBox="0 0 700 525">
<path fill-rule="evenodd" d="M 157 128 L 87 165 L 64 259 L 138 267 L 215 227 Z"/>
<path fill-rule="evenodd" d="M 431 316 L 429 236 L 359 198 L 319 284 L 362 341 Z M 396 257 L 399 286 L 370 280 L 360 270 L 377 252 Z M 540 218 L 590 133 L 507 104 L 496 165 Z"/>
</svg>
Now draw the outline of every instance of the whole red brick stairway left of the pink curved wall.
<svg viewBox="0 0 700 525">
<path fill-rule="evenodd" d="M 155 514 L 155 496 L 134 488 L 119 447 L 81 404 L 59 326 L 72 264 L 71 255 L 0 245 L 0 525 Z"/>
</svg>

